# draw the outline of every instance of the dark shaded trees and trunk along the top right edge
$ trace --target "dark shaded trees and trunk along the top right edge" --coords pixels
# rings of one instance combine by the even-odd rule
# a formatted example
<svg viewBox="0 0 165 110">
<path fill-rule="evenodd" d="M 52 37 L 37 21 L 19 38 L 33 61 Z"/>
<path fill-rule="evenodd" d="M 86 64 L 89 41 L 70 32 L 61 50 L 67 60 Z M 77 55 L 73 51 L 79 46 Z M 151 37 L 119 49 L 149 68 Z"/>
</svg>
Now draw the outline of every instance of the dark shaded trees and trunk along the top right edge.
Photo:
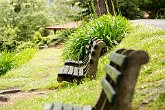
<svg viewBox="0 0 165 110">
<path fill-rule="evenodd" d="M 91 16 L 91 13 L 97 15 L 114 12 L 121 14 L 128 19 L 144 18 L 144 13 L 148 18 L 165 18 L 164 0 L 71 0 L 73 4 L 78 4 L 83 8 L 82 13 Z M 113 5 L 112 5 L 113 3 Z M 92 5 L 91 5 L 92 4 Z M 100 6 L 98 11 L 97 5 Z M 107 8 L 108 7 L 108 8 Z"/>
</svg>

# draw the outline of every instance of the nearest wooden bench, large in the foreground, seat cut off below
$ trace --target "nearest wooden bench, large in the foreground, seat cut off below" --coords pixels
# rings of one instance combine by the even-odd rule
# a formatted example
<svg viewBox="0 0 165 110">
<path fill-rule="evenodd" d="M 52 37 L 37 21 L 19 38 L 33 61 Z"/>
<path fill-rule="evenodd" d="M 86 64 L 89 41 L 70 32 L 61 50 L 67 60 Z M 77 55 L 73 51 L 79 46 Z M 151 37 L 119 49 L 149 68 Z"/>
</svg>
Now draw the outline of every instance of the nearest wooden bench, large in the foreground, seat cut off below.
<svg viewBox="0 0 165 110">
<path fill-rule="evenodd" d="M 120 49 L 109 57 L 102 79 L 102 92 L 94 107 L 49 103 L 44 110 L 131 110 L 131 102 L 142 64 L 149 61 L 145 51 Z"/>
</svg>

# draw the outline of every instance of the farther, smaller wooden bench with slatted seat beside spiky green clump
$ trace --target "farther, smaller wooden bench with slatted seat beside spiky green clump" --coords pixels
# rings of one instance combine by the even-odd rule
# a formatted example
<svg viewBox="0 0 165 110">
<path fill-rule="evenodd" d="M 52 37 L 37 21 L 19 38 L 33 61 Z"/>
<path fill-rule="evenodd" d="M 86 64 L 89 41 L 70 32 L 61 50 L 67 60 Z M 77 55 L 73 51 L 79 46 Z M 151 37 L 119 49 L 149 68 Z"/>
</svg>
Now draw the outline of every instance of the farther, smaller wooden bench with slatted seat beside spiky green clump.
<svg viewBox="0 0 165 110">
<path fill-rule="evenodd" d="M 84 60 L 79 62 L 65 62 L 60 69 L 57 77 L 58 82 L 81 81 L 84 77 L 94 78 L 96 76 L 98 60 L 105 43 L 102 40 L 93 41 L 92 45 L 87 47 Z"/>
</svg>

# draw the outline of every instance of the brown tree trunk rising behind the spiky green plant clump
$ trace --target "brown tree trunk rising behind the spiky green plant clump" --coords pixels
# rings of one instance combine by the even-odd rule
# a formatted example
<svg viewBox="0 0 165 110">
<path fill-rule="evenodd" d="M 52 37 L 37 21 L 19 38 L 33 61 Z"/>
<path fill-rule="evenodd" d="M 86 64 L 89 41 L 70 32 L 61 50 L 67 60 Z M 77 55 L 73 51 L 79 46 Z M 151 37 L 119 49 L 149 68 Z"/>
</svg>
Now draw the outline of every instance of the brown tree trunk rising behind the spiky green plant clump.
<svg viewBox="0 0 165 110">
<path fill-rule="evenodd" d="M 96 14 L 98 16 L 110 13 L 114 15 L 116 12 L 117 1 L 116 0 L 94 0 Z"/>
</svg>

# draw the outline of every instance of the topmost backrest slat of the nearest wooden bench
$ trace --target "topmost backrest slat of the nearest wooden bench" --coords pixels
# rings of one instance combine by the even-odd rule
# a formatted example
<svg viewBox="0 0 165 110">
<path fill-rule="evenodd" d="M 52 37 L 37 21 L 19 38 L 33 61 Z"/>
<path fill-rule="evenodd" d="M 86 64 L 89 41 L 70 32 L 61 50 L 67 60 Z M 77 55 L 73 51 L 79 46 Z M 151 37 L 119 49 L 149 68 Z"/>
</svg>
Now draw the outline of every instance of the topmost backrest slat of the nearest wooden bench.
<svg viewBox="0 0 165 110">
<path fill-rule="evenodd" d="M 120 67 L 126 65 L 128 62 L 128 59 L 126 58 L 125 55 L 118 54 L 118 53 L 112 53 L 109 57 L 109 60 L 119 65 Z"/>
</svg>

